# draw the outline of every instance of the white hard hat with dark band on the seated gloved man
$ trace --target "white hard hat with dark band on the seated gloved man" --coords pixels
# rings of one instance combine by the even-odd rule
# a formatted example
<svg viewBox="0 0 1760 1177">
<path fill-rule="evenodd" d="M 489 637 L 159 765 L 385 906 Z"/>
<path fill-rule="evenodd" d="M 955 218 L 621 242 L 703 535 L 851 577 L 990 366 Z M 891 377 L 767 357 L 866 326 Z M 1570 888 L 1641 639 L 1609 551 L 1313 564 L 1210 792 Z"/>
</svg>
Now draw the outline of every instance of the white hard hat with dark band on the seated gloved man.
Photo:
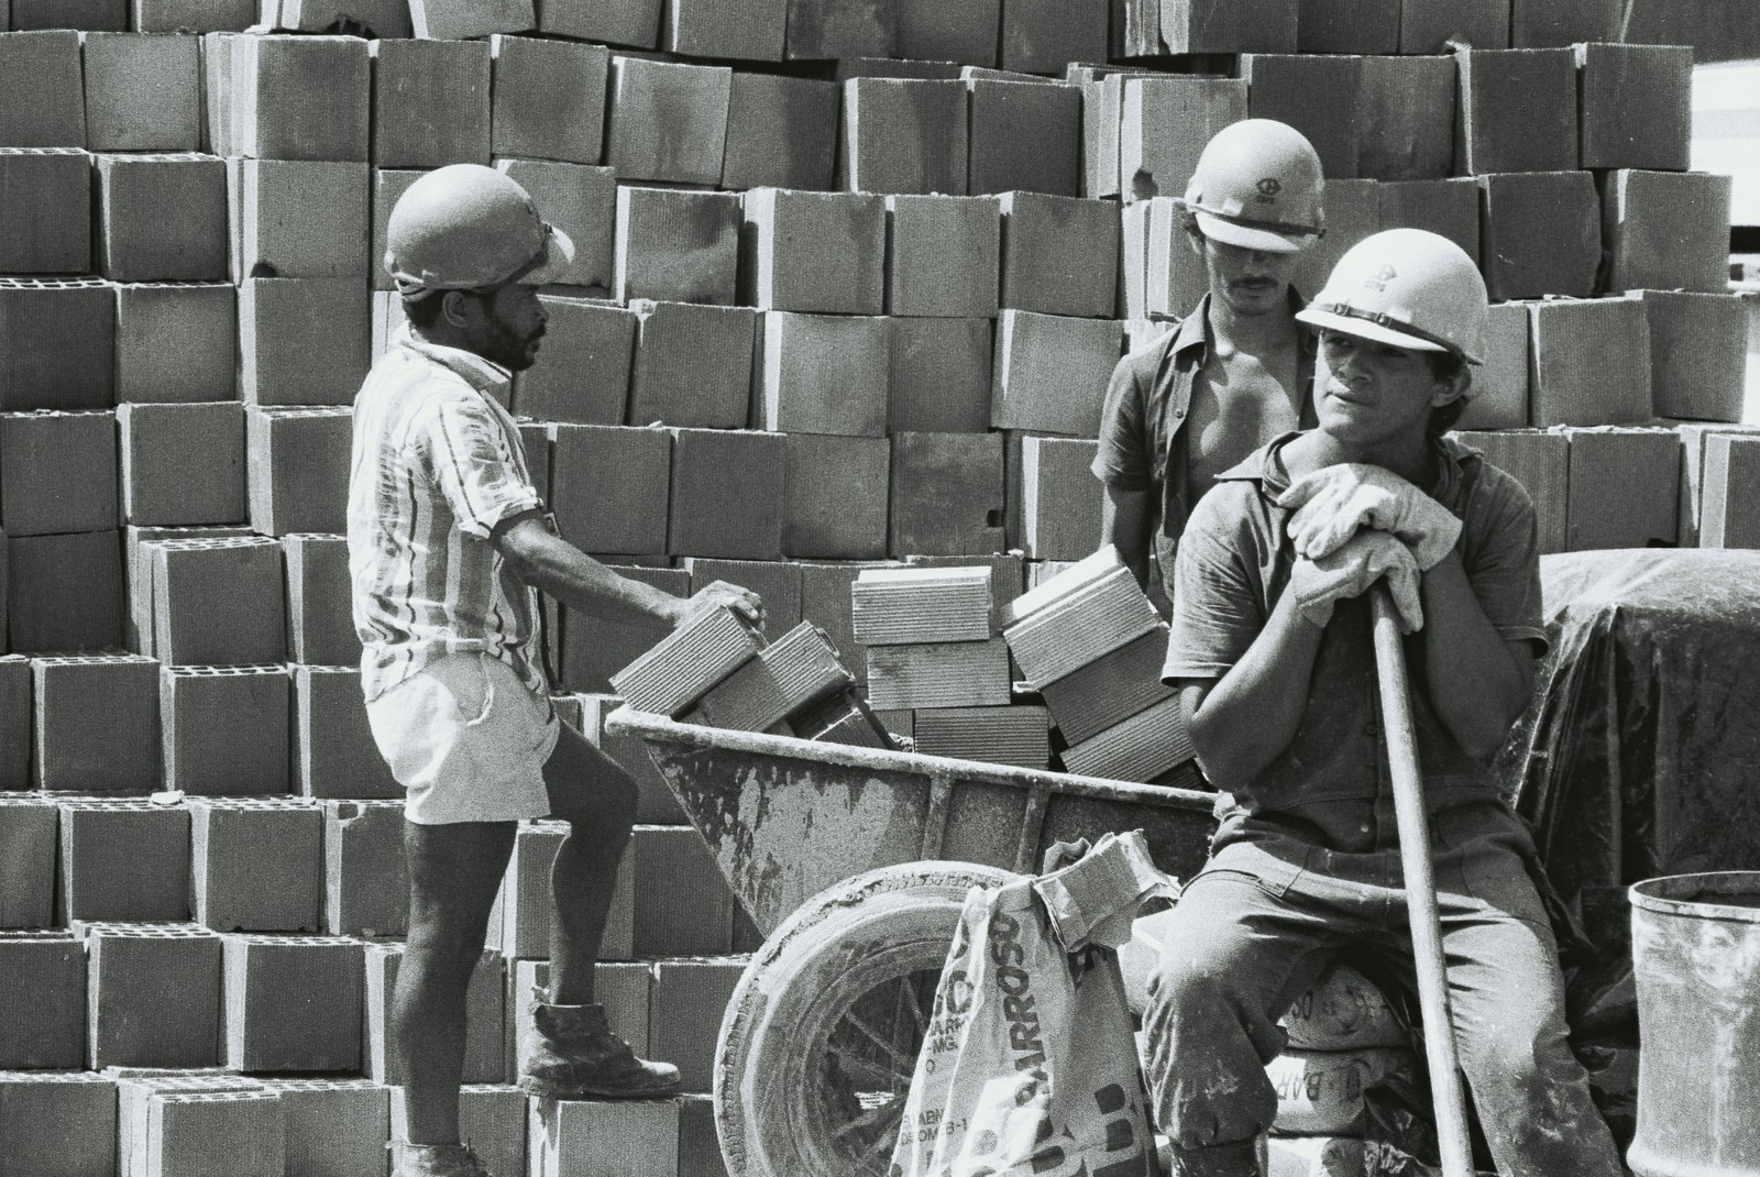
<svg viewBox="0 0 1760 1177">
<path fill-rule="evenodd" d="M 1470 364 L 1484 362 L 1485 280 L 1466 250 L 1422 229 L 1389 229 L 1353 245 L 1295 317 L 1413 352 L 1456 352 Z"/>
</svg>

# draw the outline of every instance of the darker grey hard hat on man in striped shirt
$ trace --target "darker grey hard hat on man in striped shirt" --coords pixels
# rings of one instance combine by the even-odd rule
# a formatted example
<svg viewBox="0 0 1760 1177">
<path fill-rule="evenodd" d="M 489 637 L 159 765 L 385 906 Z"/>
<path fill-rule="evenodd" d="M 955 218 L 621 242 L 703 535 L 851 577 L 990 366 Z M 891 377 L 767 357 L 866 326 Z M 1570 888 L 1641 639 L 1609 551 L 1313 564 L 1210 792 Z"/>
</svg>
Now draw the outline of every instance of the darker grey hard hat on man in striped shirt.
<svg viewBox="0 0 1760 1177">
<path fill-rule="evenodd" d="M 398 197 L 385 269 L 407 299 L 431 290 L 544 285 L 574 260 L 568 234 L 544 223 L 532 195 L 482 164 L 451 164 Z"/>
</svg>

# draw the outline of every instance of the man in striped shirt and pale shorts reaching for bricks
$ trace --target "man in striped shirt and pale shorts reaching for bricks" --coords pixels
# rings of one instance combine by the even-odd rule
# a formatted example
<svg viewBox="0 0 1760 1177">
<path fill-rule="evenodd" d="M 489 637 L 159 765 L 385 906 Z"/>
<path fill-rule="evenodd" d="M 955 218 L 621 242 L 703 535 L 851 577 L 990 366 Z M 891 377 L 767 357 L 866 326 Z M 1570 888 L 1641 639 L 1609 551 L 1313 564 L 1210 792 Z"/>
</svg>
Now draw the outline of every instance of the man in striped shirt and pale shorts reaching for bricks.
<svg viewBox="0 0 1760 1177">
<path fill-rule="evenodd" d="M 757 621 L 762 602 L 723 582 L 669 596 L 547 524 L 502 403 L 512 373 L 537 359 L 537 289 L 572 253 L 517 183 L 475 164 L 422 176 L 391 211 L 385 267 L 408 322 L 354 405 L 348 568 L 368 720 L 407 790 L 410 925 L 392 1036 L 408 1129 L 394 1177 L 488 1177 L 458 1131 L 465 991 L 521 818 L 570 827 L 551 873 L 549 991 L 535 994 L 521 1086 L 576 1100 L 678 1089 L 678 1070 L 635 1057 L 593 1001 L 635 785 L 556 720 L 537 589 L 656 628 L 709 605 Z"/>
</svg>

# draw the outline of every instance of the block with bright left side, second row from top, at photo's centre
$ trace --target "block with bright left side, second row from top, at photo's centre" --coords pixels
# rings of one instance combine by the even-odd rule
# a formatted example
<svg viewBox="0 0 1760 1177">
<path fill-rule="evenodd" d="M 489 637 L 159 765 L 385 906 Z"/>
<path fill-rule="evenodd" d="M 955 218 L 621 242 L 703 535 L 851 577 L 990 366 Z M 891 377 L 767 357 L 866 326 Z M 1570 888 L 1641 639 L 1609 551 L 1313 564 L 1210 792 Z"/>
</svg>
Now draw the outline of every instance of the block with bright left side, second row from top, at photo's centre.
<svg viewBox="0 0 1760 1177">
<path fill-rule="evenodd" d="M 843 83 L 838 171 L 850 192 L 966 194 L 964 83 L 852 77 Z"/>
</svg>

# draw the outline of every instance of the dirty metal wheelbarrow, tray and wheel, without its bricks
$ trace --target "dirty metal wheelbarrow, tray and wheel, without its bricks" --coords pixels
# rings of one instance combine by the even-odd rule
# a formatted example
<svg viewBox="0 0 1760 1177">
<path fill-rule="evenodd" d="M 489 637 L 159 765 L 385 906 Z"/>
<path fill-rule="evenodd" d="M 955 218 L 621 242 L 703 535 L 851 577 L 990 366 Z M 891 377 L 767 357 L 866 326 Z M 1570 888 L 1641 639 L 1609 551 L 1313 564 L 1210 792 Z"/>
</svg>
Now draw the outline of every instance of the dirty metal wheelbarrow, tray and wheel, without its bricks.
<svg viewBox="0 0 1760 1177">
<path fill-rule="evenodd" d="M 732 1177 L 885 1177 L 966 892 L 1037 873 L 1054 843 L 1135 829 L 1156 866 L 1188 878 L 1216 801 L 628 707 L 605 727 L 648 744 L 767 936 L 716 1043 Z"/>
</svg>

